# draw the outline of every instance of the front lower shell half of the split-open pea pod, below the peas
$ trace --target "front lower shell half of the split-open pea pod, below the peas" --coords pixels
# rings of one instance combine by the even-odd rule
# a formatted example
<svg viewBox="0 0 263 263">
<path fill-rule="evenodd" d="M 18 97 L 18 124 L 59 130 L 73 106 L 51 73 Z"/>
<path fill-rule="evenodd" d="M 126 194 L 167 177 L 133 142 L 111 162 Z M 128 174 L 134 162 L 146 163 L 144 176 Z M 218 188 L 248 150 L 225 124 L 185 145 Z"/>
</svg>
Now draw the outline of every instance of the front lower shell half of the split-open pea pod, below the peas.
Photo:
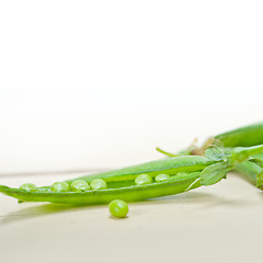
<svg viewBox="0 0 263 263">
<path fill-rule="evenodd" d="M 121 188 L 87 191 L 81 193 L 26 192 L 0 185 L 0 192 L 19 201 L 50 202 L 72 205 L 105 204 L 113 199 L 125 202 L 144 201 L 167 195 L 183 193 L 202 186 L 198 182 L 201 172 L 184 173 L 171 176 L 168 181 L 146 185 L 133 185 Z"/>
</svg>

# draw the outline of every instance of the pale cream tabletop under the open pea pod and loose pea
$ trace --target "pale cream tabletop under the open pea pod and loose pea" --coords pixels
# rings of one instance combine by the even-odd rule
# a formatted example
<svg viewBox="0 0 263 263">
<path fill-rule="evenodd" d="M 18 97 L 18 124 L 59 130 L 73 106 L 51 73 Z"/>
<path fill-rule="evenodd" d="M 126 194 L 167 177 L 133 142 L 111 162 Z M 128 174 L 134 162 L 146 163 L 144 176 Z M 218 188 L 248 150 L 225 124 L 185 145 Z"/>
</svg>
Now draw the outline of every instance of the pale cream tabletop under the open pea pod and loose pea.
<svg viewBox="0 0 263 263">
<path fill-rule="evenodd" d="M 70 174 L 73 176 L 79 174 Z M 38 185 L 53 176 L 2 178 Z M 188 193 L 129 204 L 126 219 L 107 206 L 21 204 L 0 196 L 1 261 L 261 263 L 262 192 L 230 174 Z"/>
</svg>

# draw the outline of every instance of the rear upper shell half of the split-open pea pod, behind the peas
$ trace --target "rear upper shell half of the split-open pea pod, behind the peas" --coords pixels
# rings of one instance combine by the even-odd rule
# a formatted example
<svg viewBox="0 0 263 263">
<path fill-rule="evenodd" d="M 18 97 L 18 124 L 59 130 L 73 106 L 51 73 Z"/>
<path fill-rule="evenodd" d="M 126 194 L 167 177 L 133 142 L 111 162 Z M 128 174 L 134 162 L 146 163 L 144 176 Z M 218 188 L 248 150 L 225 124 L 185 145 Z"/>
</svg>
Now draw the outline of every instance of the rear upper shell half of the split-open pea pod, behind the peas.
<svg viewBox="0 0 263 263">
<path fill-rule="evenodd" d="M 128 182 L 135 180 L 138 174 L 147 173 L 150 176 L 155 178 L 159 173 L 165 173 L 169 175 L 176 174 L 179 172 L 197 172 L 202 171 L 204 168 L 211 164 L 213 161 L 209 161 L 205 157 L 198 156 L 184 156 L 184 157 L 173 157 L 169 159 L 156 160 L 151 162 L 141 163 L 134 167 L 127 167 L 123 169 L 117 169 L 104 173 L 84 175 L 77 179 L 70 179 L 66 182 L 71 184 L 76 180 L 84 180 L 90 183 L 94 179 L 102 179 L 111 187 L 111 183 L 114 185 L 115 182 L 123 181 Z M 119 184 L 118 184 L 119 185 Z M 122 185 L 122 184 L 121 184 Z"/>
</svg>

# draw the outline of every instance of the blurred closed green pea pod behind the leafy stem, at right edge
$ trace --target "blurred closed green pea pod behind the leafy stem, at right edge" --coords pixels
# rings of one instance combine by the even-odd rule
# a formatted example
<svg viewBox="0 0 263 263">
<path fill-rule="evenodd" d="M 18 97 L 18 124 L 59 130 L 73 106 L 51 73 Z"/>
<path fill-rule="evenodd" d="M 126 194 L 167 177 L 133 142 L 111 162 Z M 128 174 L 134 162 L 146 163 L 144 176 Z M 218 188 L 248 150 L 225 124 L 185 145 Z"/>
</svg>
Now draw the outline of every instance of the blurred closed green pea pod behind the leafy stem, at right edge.
<svg viewBox="0 0 263 263">
<path fill-rule="evenodd" d="M 215 136 L 224 147 L 249 147 L 263 144 L 263 123 L 233 129 Z"/>
</svg>

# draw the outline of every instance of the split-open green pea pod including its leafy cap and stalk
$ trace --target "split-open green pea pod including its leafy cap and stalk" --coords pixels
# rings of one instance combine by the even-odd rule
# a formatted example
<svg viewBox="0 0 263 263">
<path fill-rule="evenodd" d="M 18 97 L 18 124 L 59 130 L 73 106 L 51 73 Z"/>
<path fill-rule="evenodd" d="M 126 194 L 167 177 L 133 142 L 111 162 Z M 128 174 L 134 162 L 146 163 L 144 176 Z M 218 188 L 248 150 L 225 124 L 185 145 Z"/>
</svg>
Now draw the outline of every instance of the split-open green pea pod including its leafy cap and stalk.
<svg viewBox="0 0 263 263">
<path fill-rule="evenodd" d="M 125 180 L 136 179 L 138 174 L 147 173 L 155 178 L 160 173 L 172 175 L 167 181 L 148 184 L 138 184 L 130 186 L 121 186 L 117 188 L 88 190 L 85 192 L 53 192 L 53 187 L 45 186 L 34 188 L 33 192 L 23 188 L 10 188 L 0 185 L 0 192 L 19 201 L 27 202 L 50 202 L 60 204 L 90 205 L 110 203 L 113 199 L 123 199 L 126 202 L 142 201 L 165 195 L 173 195 L 186 192 L 202 185 L 210 185 L 226 178 L 227 173 L 237 164 L 247 161 L 252 155 L 263 151 L 263 145 L 248 148 L 235 148 L 229 152 L 218 156 L 209 150 L 207 157 L 176 157 L 170 159 L 147 162 L 135 167 L 124 168 L 107 173 L 93 174 L 91 176 L 81 176 L 76 180 L 100 179 L 105 182 L 123 182 Z M 216 157 L 216 159 L 215 159 Z M 182 172 L 182 173 L 181 173 Z M 69 180 L 68 182 L 72 182 Z M 61 184 L 61 182 L 60 182 Z M 68 185 L 64 182 L 64 185 Z M 53 184 L 54 185 L 54 184 Z M 60 188 L 60 187 L 59 187 Z"/>
</svg>

